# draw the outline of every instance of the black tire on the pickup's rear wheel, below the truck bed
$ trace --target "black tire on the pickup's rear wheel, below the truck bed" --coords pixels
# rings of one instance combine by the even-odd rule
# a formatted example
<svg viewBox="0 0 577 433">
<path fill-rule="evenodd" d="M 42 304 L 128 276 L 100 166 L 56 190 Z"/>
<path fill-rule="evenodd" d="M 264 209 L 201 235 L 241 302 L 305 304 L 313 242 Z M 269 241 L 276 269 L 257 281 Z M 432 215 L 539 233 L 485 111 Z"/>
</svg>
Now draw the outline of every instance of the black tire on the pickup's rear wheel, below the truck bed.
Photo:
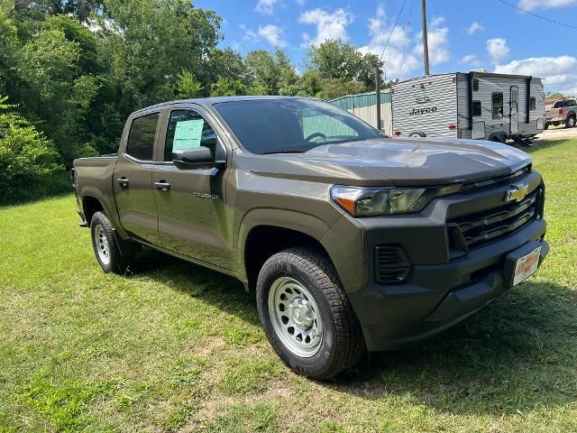
<svg viewBox="0 0 577 433">
<path fill-rule="evenodd" d="M 102 231 L 100 231 L 99 228 L 102 228 Z M 121 275 L 127 273 L 130 264 L 133 263 L 134 254 L 123 253 L 123 245 L 121 243 L 124 243 L 124 241 L 118 239 L 118 236 L 114 232 L 114 227 L 103 212 L 96 212 L 96 214 L 92 216 L 90 220 L 90 235 L 92 237 L 92 247 L 96 255 L 96 261 L 100 264 L 102 270 L 106 273 L 114 272 Z M 102 235 L 107 243 L 108 261 L 105 261 L 103 254 L 98 253 L 99 249 L 104 249 L 102 243 L 97 240 L 99 235 Z M 128 250 L 128 248 L 124 248 L 124 250 Z"/>
</svg>

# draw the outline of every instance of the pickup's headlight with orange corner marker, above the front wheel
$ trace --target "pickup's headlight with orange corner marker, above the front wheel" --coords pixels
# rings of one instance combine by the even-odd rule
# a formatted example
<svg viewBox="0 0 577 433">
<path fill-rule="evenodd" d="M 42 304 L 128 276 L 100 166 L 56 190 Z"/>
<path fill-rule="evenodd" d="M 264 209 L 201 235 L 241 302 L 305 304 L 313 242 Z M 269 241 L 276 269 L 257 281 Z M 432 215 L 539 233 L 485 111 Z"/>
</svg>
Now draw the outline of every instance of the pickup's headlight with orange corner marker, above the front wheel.
<svg viewBox="0 0 577 433">
<path fill-rule="evenodd" d="M 379 217 L 421 211 L 437 189 L 361 188 L 334 185 L 331 198 L 353 217 Z"/>
</svg>

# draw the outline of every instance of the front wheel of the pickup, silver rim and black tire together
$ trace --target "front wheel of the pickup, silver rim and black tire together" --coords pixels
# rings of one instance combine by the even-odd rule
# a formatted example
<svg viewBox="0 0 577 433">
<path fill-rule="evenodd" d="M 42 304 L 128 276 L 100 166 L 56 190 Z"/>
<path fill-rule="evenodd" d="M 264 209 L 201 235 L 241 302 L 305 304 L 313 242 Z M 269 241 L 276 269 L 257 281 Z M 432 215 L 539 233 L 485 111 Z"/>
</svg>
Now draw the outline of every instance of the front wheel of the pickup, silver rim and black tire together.
<svg viewBox="0 0 577 433">
<path fill-rule="evenodd" d="M 365 350 L 361 325 L 323 253 L 274 254 L 257 281 L 257 305 L 270 345 L 297 373 L 328 379 Z"/>
</svg>

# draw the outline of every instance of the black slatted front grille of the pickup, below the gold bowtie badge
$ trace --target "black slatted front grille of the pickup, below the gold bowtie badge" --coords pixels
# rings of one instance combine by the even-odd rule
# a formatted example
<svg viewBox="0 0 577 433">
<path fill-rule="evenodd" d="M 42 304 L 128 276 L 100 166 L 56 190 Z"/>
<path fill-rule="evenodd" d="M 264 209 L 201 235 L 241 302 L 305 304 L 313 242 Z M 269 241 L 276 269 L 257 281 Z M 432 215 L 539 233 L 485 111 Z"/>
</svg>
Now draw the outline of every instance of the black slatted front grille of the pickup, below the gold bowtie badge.
<svg viewBox="0 0 577 433">
<path fill-rule="evenodd" d="M 516 203 L 448 221 L 451 247 L 467 251 L 517 231 L 540 217 L 542 194 L 542 189 L 536 189 Z"/>
</svg>

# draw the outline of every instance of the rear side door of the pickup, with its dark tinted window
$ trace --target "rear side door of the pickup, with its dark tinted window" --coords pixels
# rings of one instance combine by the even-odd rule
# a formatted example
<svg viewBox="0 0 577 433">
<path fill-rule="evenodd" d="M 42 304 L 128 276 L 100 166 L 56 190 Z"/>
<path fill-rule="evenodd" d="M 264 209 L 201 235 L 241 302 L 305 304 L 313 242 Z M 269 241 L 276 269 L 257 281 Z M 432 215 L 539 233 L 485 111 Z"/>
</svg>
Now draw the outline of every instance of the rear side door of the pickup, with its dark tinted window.
<svg viewBox="0 0 577 433">
<path fill-rule="evenodd" d="M 136 238 L 156 244 L 158 215 L 152 195 L 154 143 L 160 113 L 134 117 L 114 168 L 114 195 L 120 223 Z M 123 150 L 124 148 L 124 150 Z"/>
</svg>

